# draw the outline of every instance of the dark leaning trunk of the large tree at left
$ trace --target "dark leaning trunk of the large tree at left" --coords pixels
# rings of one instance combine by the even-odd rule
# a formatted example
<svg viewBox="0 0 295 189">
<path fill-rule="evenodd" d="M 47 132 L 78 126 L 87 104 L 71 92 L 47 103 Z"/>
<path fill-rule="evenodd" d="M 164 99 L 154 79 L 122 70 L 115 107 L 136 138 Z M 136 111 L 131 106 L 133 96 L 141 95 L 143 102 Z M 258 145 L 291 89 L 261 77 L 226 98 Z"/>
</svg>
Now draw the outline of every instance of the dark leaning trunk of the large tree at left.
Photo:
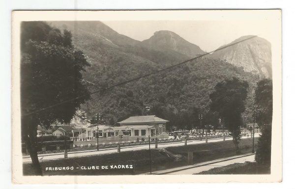
<svg viewBox="0 0 295 189">
<path fill-rule="evenodd" d="M 24 131 L 25 135 L 23 135 L 23 137 L 29 152 L 29 156 L 32 160 L 32 166 L 35 175 L 42 176 L 42 169 L 39 163 L 36 145 L 37 126 L 33 123 L 33 121 L 24 121 L 22 124 L 27 124 L 26 126 L 22 127 L 23 129 L 26 128 Z"/>
</svg>

